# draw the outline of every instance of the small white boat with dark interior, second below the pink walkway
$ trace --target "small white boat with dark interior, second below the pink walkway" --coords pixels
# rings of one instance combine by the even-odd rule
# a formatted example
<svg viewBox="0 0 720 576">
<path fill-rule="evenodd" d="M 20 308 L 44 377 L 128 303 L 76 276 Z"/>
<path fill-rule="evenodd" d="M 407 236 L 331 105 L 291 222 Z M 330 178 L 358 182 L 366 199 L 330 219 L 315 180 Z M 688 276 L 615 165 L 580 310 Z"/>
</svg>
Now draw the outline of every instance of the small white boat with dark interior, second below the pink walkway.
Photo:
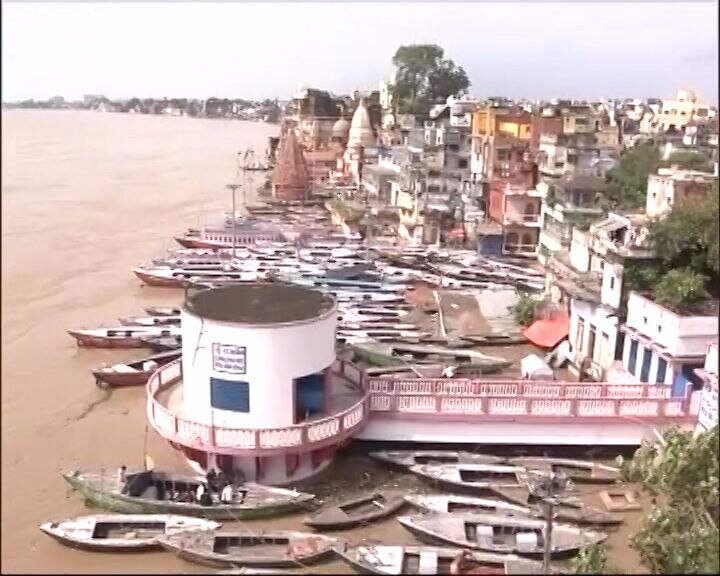
<svg viewBox="0 0 720 576">
<path fill-rule="evenodd" d="M 526 470 L 499 464 L 419 464 L 410 472 L 424 480 L 461 492 L 492 495 L 494 487 L 522 488 Z"/>
</svg>

